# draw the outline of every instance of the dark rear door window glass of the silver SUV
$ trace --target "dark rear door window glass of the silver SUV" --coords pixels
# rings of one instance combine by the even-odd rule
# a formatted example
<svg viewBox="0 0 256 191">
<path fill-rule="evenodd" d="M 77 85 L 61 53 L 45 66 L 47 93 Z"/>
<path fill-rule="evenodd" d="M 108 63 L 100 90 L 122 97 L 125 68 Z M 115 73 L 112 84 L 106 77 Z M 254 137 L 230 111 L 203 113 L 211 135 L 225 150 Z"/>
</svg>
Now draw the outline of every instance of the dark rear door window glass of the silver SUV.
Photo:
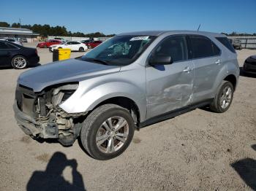
<svg viewBox="0 0 256 191">
<path fill-rule="evenodd" d="M 220 54 L 219 47 L 204 36 L 189 36 L 192 58 L 206 58 Z"/>
</svg>

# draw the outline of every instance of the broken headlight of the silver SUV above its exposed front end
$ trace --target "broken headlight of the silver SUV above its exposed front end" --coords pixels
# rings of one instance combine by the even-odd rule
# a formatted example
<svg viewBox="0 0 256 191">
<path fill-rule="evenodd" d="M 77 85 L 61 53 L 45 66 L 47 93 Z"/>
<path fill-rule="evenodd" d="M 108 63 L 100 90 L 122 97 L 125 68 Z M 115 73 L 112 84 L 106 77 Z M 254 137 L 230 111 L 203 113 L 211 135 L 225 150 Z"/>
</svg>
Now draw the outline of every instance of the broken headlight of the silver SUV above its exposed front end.
<svg viewBox="0 0 256 191">
<path fill-rule="evenodd" d="M 75 93 L 75 90 L 77 90 L 77 89 L 78 89 L 78 83 L 57 87 L 56 89 L 53 90 L 53 97 L 52 97 L 53 105 L 57 106 L 57 105 L 63 103 L 73 93 Z"/>
</svg>

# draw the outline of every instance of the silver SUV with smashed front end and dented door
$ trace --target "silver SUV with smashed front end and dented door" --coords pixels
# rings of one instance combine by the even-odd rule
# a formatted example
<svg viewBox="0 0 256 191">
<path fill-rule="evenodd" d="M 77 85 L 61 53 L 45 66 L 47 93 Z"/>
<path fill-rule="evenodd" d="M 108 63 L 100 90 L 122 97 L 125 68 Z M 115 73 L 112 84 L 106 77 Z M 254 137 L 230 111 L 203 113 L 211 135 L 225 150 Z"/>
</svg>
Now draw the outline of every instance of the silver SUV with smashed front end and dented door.
<svg viewBox="0 0 256 191">
<path fill-rule="evenodd" d="M 238 76 L 222 34 L 119 34 L 82 57 L 21 74 L 15 119 L 34 139 L 79 138 L 91 157 L 108 160 L 127 149 L 135 129 L 201 106 L 226 112 Z"/>
</svg>

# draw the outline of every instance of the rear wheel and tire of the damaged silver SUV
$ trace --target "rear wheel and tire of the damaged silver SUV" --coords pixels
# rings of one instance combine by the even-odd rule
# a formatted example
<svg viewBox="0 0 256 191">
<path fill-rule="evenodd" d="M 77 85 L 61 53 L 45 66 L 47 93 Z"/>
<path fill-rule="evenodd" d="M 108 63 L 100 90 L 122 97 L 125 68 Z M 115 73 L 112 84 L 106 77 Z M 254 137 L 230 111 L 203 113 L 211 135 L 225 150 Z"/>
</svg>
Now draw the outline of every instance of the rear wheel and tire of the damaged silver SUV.
<svg viewBox="0 0 256 191">
<path fill-rule="evenodd" d="M 223 81 L 219 86 L 214 101 L 210 104 L 210 109 L 217 113 L 224 113 L 230 108 L 233 101 L 234 87 L 230 82 Z"/>
</svg>

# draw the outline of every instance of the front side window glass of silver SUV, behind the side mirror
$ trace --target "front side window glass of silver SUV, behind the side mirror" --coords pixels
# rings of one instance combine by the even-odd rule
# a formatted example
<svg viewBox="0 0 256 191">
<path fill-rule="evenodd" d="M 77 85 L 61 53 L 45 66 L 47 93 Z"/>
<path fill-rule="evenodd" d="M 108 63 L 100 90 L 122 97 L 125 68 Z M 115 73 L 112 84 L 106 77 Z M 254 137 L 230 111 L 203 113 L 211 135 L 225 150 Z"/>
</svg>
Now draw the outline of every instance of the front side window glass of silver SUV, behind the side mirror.
<svg viewBox="0 0 256 191">
<path fill-rule="evenodd" d="M 173 62 L 186 61 L 188 59 L 186 37 L 167 37 L 167 39 L 160 42 L 152 56 L 170 56 Z"/>
</svg>

